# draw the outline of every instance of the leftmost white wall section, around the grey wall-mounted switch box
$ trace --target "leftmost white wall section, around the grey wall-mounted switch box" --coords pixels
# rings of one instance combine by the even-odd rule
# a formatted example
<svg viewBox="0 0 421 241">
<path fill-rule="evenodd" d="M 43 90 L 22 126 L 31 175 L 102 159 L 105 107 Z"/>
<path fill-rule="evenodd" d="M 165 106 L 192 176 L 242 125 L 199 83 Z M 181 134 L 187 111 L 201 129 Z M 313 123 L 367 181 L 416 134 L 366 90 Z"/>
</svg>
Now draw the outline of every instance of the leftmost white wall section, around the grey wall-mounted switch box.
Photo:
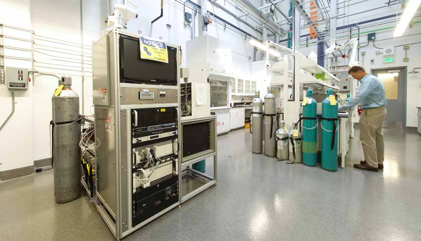
<svg viewBox="0 0 421 241">
<path fill-rule="evenodd" d="M 7 4 L 6 4 L 7 3 Z M 4 24 L 11 23 L 11 19 L 16 19 L 16 25 L 20 27 L 30 26 L 29 0 L 0 0 L 0 21 Z M 17 18 L 17 16 L 21 16 Z M 4 29 L 4 35 L 15 33 L 10 29 Z M 28 34 L 18 33 L 17 37 L 25 38 Z M 30 34 L 29 34 L 30 35 Z M 15 35 L 16 36 L 16 35 Z M 10 40 L 4 40 L 4 45 L 10 43 Z M 19 43 L 19 47 L 27 47 L 27 43 Z M 29 45 L 30 46 L 30 45 Z M 4 50 L 4 55 L 14 54 L 13 51 Z M 22 56 L 24 57 L 24 56 Z M 19 63 L 18 61 L 7 61 L 4 63 L 11 67 L 30 67 L 30 63 Z M 15 91 L 16 110 L 9 122 L 0 131 L 0 171 L 13 169 L 33 164 L 33 145 L 32 145 L 32 86 L 27 91 Z M 11 112 L 11 92 L 5 85 L 0 86 L 0 123 L 6 119 Z"/>
</svg>

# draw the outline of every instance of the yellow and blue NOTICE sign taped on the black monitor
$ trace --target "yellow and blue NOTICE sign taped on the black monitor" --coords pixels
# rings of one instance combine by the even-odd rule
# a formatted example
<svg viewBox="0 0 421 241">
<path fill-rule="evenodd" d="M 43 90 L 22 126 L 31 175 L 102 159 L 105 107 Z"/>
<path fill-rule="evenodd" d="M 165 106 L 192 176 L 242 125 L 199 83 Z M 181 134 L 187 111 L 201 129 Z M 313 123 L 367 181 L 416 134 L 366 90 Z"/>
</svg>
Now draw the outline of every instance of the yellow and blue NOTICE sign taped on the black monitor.
<svg viewBox="0 0 421 241">
<path fill-rule="evenodd" d="M 162 41 L 140 36 L 140 58 L 168 63 L 167 45 Z"/>
</svg>

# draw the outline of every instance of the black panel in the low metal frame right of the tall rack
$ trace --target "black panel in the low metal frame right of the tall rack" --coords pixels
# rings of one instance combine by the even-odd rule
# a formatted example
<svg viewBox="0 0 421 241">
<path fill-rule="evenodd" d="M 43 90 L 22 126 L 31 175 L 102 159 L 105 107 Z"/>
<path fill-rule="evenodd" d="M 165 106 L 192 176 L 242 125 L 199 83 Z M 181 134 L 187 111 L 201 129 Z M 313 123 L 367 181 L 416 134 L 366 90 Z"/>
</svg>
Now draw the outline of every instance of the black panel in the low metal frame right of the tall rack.
<svg viewBox="0 0 421 241">
<path fill-rule="evenodd" d="M 210 149 L 210 122 L 183 125 L 183 157 Z"/>
</svg>

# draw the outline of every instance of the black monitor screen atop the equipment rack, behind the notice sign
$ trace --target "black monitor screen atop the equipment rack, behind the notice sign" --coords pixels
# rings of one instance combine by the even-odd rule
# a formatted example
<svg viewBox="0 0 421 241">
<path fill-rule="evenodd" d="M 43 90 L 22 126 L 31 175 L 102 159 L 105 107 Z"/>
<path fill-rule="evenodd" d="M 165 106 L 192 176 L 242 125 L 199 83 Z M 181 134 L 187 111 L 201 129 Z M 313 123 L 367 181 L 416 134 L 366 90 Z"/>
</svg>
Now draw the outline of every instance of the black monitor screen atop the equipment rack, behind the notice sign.
<svg viewBox="0 0 421 241">
<path fill-rule="evenodd" d="M 168 64 L 140 59 L 139 38 L 120 35 L 120 82 L 177 85 L 177 49 L 167 46 Z"/>
</svg>

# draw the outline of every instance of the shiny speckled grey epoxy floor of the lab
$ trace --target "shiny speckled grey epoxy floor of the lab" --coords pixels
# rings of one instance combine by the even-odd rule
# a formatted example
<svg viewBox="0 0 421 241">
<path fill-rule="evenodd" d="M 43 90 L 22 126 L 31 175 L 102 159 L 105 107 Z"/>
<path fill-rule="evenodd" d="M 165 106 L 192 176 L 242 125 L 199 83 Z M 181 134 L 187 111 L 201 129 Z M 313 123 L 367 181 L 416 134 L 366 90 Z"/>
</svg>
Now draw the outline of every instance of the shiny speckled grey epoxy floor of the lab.
<svg viewBox="0 0 421 241">
<path fill-rule="evenodd" d="M 384 129 L 378 173 L 288 165 L 250 152 L 249 130 L 218 137 L 218 182 L 125 240 L 420 240 L 421 136 Z M 53 172 L 0 184 L 0 240 L 113 240 L 86 195 L 56 204 Z"/>
</svg>

